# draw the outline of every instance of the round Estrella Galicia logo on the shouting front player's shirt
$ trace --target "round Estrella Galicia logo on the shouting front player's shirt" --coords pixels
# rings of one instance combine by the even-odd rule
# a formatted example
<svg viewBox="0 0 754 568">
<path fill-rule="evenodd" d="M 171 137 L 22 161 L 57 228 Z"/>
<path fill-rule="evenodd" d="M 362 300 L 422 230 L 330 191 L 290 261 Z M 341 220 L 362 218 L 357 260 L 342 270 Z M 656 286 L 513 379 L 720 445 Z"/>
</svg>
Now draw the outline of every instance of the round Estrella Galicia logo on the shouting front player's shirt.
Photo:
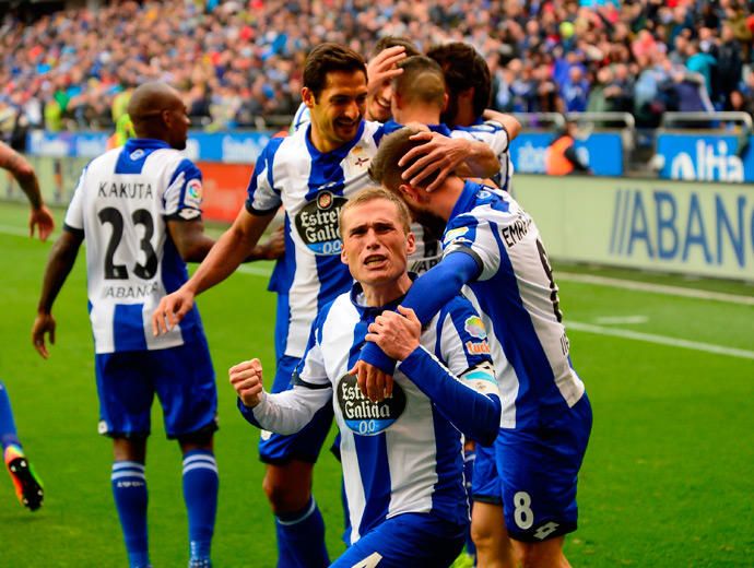
<svg viewBox="0 0 754 568">
<path fill-rule="evenodd" d="M 344 375 L 338 381 L 338 405 L 343 422 L 355 434 L 376 436 L 388 429 L 405 410 L 405 393 L 397 382 L 392 394 L 382 402 L 372 402 L 358 388 L 356 377 Z"/>
</svg>

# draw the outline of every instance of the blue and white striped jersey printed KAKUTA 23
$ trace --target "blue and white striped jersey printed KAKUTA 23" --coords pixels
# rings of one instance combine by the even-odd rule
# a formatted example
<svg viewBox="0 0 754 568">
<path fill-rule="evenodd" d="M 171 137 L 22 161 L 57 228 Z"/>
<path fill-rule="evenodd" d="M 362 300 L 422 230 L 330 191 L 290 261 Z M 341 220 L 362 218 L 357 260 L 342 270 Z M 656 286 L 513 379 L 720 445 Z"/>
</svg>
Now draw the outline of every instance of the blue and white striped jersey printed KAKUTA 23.
<svg viewBox="0 0 754 568">
<path fill-rule="evenodd" d="M 174 347 L 202 333 L 196 307 L 165 335 L 152 335 L 151 320 L 188 279 L 166 221 L 199 218 L 201 200 L 201 171 L 161 140 L 129 140 L 86 166 L 64 223 L 86 239 L 96 353 Z"/>
</svg>

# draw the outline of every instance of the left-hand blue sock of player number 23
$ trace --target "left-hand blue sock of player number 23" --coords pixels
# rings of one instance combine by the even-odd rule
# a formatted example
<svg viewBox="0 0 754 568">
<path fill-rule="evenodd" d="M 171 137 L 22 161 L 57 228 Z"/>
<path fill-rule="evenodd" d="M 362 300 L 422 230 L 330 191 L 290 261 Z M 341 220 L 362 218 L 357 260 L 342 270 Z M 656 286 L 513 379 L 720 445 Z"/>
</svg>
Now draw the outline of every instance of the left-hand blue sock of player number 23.
<svg viewBox="0 0 754 568">
<path fill-rule="evenodd" d="M 148 494 L 144 464 L 116 461 L 113 464 L 110 480 L 129 566 L 146 568 L 150 565 L 150 554 L 146 539 Z"/>
</svg>

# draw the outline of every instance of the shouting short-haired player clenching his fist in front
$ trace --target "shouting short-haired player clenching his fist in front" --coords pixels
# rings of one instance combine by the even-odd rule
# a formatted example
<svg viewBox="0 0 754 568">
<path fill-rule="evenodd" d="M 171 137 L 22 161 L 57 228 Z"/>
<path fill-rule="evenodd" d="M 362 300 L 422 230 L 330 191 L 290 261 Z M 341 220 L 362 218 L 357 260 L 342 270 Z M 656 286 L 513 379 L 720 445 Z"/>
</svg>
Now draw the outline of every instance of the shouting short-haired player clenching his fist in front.
<svg viewBox="0 0 754 568">
<path fill-rule="evenodd" d="M 341 210 L 340 257 L 356 284 L 315 319 L 293 389 L 263 392 L 258 359 L 229 370 L 241 414 L 258 427 L 294 433 L 334 406 L 351 519 L 351 546 L 334 567 L 449 566 L 468 524 L 461 433 L 490 442 L 497 430 L 486 334 L 466 298 L 447 301 L 424 331 L 411 310 L 379 315 L 411 287 L 409 223 L 384 189 L 352 198 Z M 349 372 L 366 339 L 401 360 L 381 403 Z"/>
</svg>

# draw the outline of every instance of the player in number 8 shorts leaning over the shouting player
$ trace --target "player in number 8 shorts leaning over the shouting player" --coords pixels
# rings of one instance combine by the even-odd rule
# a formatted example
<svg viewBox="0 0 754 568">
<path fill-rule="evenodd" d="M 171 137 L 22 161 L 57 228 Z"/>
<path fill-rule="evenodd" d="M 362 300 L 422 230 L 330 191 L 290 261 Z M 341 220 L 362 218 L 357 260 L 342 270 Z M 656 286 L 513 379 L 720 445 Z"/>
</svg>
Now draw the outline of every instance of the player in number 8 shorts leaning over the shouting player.
<svg viewBox="0 0 754 568">
<path fill-rule="evenodd" d="M 475 505 L 485 497 L 481 505 L 487 514 L 485 525 L 472 524 L 472 533 L 493 531 L 490 523 L 502 524 L 505 516 L 525 566 L 568 566 L 563 542 L 576 530 L 576 478 L 591 409 L 570 365 L 557 286 L 539 230 L 503 191 L 457 176 L 432 193 L 404 181 L 401 174 L 415 158 L 415 133 L 405 128 L 387 137 L 370 174 L 399 194 L 414 217 L 446 224 L 443 260 L 416 281 L 402 305 L 424 323 L 467 285 L 488 329 L 503 414 L 494 454 L 476 457 Z M 369 377 L 365 362 L 386 372 L 391 365 L 370 344 L 361 358 L 358 380 L 375 397 L 381 380 L 374 370 Z"/>
</svg>

